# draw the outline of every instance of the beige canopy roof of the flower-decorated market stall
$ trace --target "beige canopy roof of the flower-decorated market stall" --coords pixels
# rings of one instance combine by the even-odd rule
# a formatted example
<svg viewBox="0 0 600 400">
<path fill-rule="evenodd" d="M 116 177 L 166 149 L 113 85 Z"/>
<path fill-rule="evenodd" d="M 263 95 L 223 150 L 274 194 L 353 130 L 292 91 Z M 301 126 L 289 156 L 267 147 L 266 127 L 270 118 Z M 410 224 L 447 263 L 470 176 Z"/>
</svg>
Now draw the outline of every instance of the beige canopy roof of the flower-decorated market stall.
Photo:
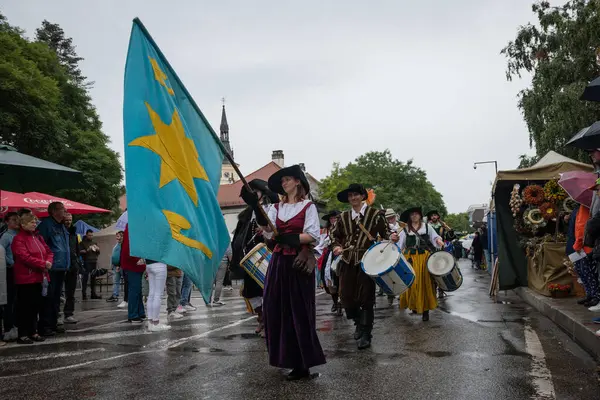
<svg viewBox="0 0 600 400">
<path fill-rule="evenodd" d="M 592 172 L 591 164 L 584 164 L 565 157 L 554 151 L 549 151 L 535 165 L 529 168 L 498 171 L 494 189 L 499 181 L 547 181 L 559 179 L 560 174 L 568 171 Z"/>
</svg>

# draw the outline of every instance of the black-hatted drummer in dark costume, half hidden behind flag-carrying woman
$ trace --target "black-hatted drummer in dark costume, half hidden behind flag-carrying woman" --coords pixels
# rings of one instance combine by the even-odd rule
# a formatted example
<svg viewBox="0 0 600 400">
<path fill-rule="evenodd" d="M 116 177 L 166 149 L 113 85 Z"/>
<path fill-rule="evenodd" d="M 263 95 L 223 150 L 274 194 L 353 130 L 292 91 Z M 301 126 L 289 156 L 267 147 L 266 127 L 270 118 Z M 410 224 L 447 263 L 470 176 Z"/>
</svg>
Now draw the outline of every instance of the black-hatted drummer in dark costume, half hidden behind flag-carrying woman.
<svg viewBox="0 0 600 400">
<path fill-rule="evenodd" d="M 268 212 L 272 203 L 279 202 L 279 197 L 276 193 L 269 190 L 266 181 L 262 179 L 253 179 L 248 185 L 256 192 L 259 204 L 265 211 Z M 244 199 L 247 196 L 248 190 L 246 189 L 246 186 L 243 186 L 240 197 Z M 259 243 L 266 243 L 270 237 L 271 235 L 263 232 L 256 223 L 256 215 L 252 207 L 246 207 L 246 209 L 238 215 L 238 223 L 235 227 L 233 239 L 231 241 L 232 258 L 230 265 L 233 268 L 237 268 L 240 265 L 240 261 L 250 250 Z M 258 315 L 256 334 L 264 337 L 262 319 L 263 290 L 245 270 L 243 271 L 244 284 L 242 286 L 241 295 L 244 297 L 250 312 Z"/>
</svg>

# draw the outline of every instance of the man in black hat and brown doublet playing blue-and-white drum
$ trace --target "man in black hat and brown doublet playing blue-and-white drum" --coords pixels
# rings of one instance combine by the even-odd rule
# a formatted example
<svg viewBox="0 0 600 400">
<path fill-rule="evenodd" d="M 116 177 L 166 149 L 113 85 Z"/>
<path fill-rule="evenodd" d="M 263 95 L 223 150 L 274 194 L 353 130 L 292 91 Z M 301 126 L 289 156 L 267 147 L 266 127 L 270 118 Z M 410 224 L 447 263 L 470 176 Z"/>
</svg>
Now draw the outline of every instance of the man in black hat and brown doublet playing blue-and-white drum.
<svg viewBox="0 0 600 400">
<path fill-rule="evenodd" d="M 371 346 L 371 332 L 375 315 L 375 281 L 365 274 L 360 266 L 361 259 L 377 240 L 398 241 L 398 234 L 390 236 L 384 214 L 368 206 L 364 201 L 367 191 L 363 185 L 353 183 L 338 193 L 337 199 L 350 203 L 349 211 L 342 212 L 331 235 L 334 240 L 333 253 L 341 255 L 338 265 L 340 298 L 346 317 L 356 325 L 354 339 L 359 349 Z"/>
</svg>

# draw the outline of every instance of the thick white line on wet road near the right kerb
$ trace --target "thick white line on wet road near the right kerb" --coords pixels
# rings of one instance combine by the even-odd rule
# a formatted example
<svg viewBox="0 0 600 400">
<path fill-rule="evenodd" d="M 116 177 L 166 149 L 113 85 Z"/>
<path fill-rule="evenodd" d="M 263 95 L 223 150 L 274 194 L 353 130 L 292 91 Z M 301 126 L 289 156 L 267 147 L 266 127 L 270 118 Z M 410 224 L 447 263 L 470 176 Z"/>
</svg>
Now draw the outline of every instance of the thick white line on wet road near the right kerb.
<svg viewBox="0 0 600 400">
<path fill-rule="evenodd" d="M 525 351 L 531 355 L 529 375 L 532 378 L 536 400 L 553 400 L 556 398 L 552 373 L 546 365 L 546 354 L 537 333 L 529 325 L 525 325 Z"/>
</svg>

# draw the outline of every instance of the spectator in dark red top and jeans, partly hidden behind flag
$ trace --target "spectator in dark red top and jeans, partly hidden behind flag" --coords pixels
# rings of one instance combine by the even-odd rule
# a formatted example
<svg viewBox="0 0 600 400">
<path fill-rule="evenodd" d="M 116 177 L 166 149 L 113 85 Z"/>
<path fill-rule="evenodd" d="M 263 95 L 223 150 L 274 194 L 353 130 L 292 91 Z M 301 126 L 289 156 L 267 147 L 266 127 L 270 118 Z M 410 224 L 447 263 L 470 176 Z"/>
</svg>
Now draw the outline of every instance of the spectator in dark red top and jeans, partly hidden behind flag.
<svg viewBox="0 0 600 400">
<path fill-rule="evenodd" d="M 132 257 L 129 253 L 129 225 L 125 226 L 123 232 L 123 243 L 121 244 L 121 269 L 127 271 L 128 303 L 127 318 L 129 322 L 142 323 L 146 319 L 144 302 L 142 301 L 142 275 L 146 270 L 144 260 Z"/>
</svg>

